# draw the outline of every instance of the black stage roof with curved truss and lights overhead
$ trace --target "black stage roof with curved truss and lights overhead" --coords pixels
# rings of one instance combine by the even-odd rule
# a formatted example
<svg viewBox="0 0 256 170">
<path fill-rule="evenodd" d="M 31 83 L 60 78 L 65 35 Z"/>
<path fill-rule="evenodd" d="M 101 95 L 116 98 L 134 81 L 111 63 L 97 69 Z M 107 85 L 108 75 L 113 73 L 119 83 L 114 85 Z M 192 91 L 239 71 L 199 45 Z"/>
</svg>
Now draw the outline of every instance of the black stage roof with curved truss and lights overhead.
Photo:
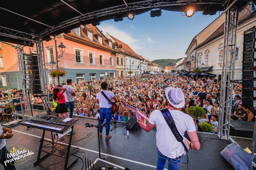
<svg viewBox="0 0 256 170">
<path fill-rule="evenodd" d="M 3 1 L 0 4 L 0 40 L 28 45 L 29 41 L 47 39 L 50 34 L 60 34 L 79 23 L 126 17 L 133 10 L 136 15 L 151 9 L 184 12 L 188 8 L 212 14 L 223 11 L 226 0 L 44 0 Z M 232 1 L 230 1 L 232 2 Z M 237 0 L 243 6 L 249 0 Z M 136 17 L 136 16 L 135 16 Z M 21 33 L 22 32 L 22 33 Z M 20 37 L 22 40 L 20 40 Z"/>
</svg>

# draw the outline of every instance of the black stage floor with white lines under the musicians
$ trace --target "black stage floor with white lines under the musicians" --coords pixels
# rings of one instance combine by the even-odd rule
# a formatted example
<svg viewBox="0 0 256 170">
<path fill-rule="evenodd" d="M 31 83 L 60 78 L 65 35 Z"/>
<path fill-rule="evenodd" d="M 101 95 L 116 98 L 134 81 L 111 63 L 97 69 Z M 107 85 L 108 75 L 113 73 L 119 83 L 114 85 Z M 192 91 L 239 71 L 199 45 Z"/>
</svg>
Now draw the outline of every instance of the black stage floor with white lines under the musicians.
<svg viewBox="0 0 256 170">
<path fill-rule="evenodd" d="M 74 147 L 78 147 L 80 149 L 80 152 L 84 153 L 77 153 L 77 156 L 83 157 L 85 154 L 86 158 L 96 160 L 98 158 L 97 129 L 95 127 L 85 128 L 85 123 L 91 123 L 96 125 L 98 121 L 79 117 L 79 121 L 74 127 L 76 133 L 73 134 L 72 141 L 77 141 L 83 137 L 86 137 L 89 133 L 93 133 L 93 135 L 82 141 L 77 141 L 76 143 L 74 143 L 71 147 L 71 150 L 73 150 Z M 39 165 L 34 167 L 33 163 L 36 161 L 37 158 L 39 139 L 41 137 L 42 130 L 30 128 L 27 131 L 26 128 L 27 127 L 24 127 L 20 124 L 11 127 L 14 136 L 11 139 L 6 140 L 6 147 L 15 144 L 35 152 L 35 154 L 32 155 L 26 163 L 16 165 L 17 170 L 41 170 L 47 165 L 57 163 L 61 160 L 61 158 L 51 155 L 45 158 Z M 113 164 L 119 165 L 124 168 L 130 168 L 131 170 L 156 169 L 157 151 L 155 133 L 156 131 L 153 130 L 151 130 L 149 133 L 145 132 L 144 130 L 134 130 L 129 132 L 129 136 L 126 136 L 123 133 L 123 127 L 117 127 L 111 132 L 112 138 L 108 141 L 105 141 L 104 128 L 103 137 L 100 138 L 102 153 L 101 156 L 106 156 L 106 161 L 112 162 Z M 189 151 L 189 169 L 233 169 L 233 167 L 229 165 L 220 155 L 220 152 L 228 145 L 227 143 L 219 140 L 218 136 L 214 134 L 198 133 L 198 136 L 201 143 L 201 149 L 198 151 Z M 45 138 L 51 139 L 51 133 L 46 132 Z M 65 136 L 63 142 L 68 143 L 68 139 L 69 138 Z M 44 147 L 44 149 L 50 151 L 51 145 Z M 75 158 L 75 156 L 70 156 L 69 162 L 71 160 L 74 160 Z M 187 162 L 186 156 L 184 157 L 183 162 Z M 63 169 L 64 163 L 65 160 L 57 165 L 52 165 L 48 167 L 48 169 Z M 78 159 L 78 161 L 73 165 L 72 169 L 80 170 L 81 167 L 82 161 Z M 1 168 L 2 165 L 0 165 L 0 169 Z M 165 168 L 168 168 L 168 164 L 165 165 Z M 83 169 L 85 169 L 85 167 Z M 182 164 L 180 169 L 187 169 L 187 164 Z"/>
</svg>

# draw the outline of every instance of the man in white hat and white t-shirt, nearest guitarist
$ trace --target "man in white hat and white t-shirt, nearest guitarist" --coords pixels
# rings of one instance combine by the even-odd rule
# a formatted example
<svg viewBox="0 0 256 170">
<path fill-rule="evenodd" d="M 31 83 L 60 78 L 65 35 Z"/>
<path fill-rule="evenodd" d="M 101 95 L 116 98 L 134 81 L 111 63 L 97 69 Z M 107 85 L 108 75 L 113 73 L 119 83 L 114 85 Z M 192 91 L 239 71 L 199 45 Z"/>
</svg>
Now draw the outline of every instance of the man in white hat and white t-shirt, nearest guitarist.
<svg viewBox="0 0 256 170">
<path fill-rule="evenodd" d="M 178 131 L 182 136 L 187 131 L 191 140 L 191 142 L 188 141 L 190 149 L 200 149 L 193 118 L 178 110 L 185 104 L 182 90 L 180 88 L 167 87 L 165 88 L 165 95 L 167 99 L 167 109 L 169 109 Z M 158 152 L 157 170 L 164 169 L 166 160 L 168 160 L 168 170 L 178 170 L 183 159 L 184 147 L 173 135 L 162 112 L 160 110 L 154 110 L 149 117 L 147 125 L 140 120 L 141 116 L 137 114 L 137 122 L 146 132 L 153 129 L 154 124 L 156 124 L 156 145 Z"/>
</svg>

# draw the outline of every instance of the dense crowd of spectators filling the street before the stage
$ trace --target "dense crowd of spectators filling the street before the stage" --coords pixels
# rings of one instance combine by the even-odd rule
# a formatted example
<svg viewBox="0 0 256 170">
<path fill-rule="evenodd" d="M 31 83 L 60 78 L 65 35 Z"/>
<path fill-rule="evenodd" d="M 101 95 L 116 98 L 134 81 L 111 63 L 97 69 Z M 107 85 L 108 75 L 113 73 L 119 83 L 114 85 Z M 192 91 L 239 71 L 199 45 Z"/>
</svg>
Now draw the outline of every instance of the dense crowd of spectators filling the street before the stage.
<svg viewBox="0 0 256 170">
<path fill-rule="evenodd" d="M 112 91 L 119 102 L 119 110 L 114 115 L 113 119 L 118 121 L 128 121 L 133 113 L 125 106 L 127 104 L 138 108 L 145 116 L 149 117 L 155 109 L 163 109 L 166 107 L 165 88 L 168 86 L 179 87 L 182 89 L 185 96 L 185 105 L 180 108 L 180 111 L 186 113 L 190 106 L 203 107 L 206 112 L 205 118 L 201 118 L 195 122 L 200 126 L 200 123 L 208 122 L 216 131 L 218 127 L 219 115 L 219 96 L 220 82 L 215 78 L 198 78 L 195 80 L 191 77 L 174 76 L 172 74 L 162 75 L 142 75 L 119 78 L 107 78 L 106 80 L 81 80 L 72 81 L 70 86 L 74 88 L 74 109 L 75 116 L 99 116 L 99 105 L 96 100 L 96 95 L 101 92 L 101 83 L 108 83 L 108 90 Z M 60 81 L 59 87 L 65 86 L 65 81 Z M 52 111 L 56 109 L 58 104 L 56 99 L 53 99 L 55 83 L 50 82 L 48 85 L 49 98 L 51 101 Z M 233 88 L 232 116 L 233 120 L 255 121 L 254 108 L 243 106 L 242 104 L 242 84 L 238 83 Z M 10 93 L 10 95 L 8 95 Z M 17 98 L 23 96 L 22 90 L 9 89 L 6 92 L 1 91 L 1 100 L 7 98 Z M 30 97 L 31 104 L 39 104 L 43 101 L 41 98 L 32 95 Z M 9 106 L 11 102 L 13 110 Z M 6 115 L 8 120 L 12 120 L 12 113 L 21 111 L 21 106 L 24 108 L 24 101 L 20 103 L 20 99 L 1 102 L 1 116 Z M 71 107 L 72 108 L 72 107 Z M 69 108 L 67 108 L 70 112 Z M 72 112 L 71 112 L 72 113 Z M 144 122 L 147 123 L 146 121 Z"/>
</svg>

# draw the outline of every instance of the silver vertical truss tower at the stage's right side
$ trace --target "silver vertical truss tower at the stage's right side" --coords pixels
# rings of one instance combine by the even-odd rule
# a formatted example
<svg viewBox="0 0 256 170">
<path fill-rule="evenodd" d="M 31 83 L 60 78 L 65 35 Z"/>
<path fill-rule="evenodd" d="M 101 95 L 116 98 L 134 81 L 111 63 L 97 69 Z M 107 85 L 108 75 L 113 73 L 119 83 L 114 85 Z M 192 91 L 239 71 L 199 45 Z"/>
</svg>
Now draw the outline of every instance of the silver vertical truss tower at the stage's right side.
<svg viewBox="0 0 256 170">
<path fill-rule="evenodd" d="M 218 127 L 218 136 L 221 139 L 229 139 L 239 12 L 237 7 L 232 7 L 225 11 L 226 13 Z"/>
</svg>

